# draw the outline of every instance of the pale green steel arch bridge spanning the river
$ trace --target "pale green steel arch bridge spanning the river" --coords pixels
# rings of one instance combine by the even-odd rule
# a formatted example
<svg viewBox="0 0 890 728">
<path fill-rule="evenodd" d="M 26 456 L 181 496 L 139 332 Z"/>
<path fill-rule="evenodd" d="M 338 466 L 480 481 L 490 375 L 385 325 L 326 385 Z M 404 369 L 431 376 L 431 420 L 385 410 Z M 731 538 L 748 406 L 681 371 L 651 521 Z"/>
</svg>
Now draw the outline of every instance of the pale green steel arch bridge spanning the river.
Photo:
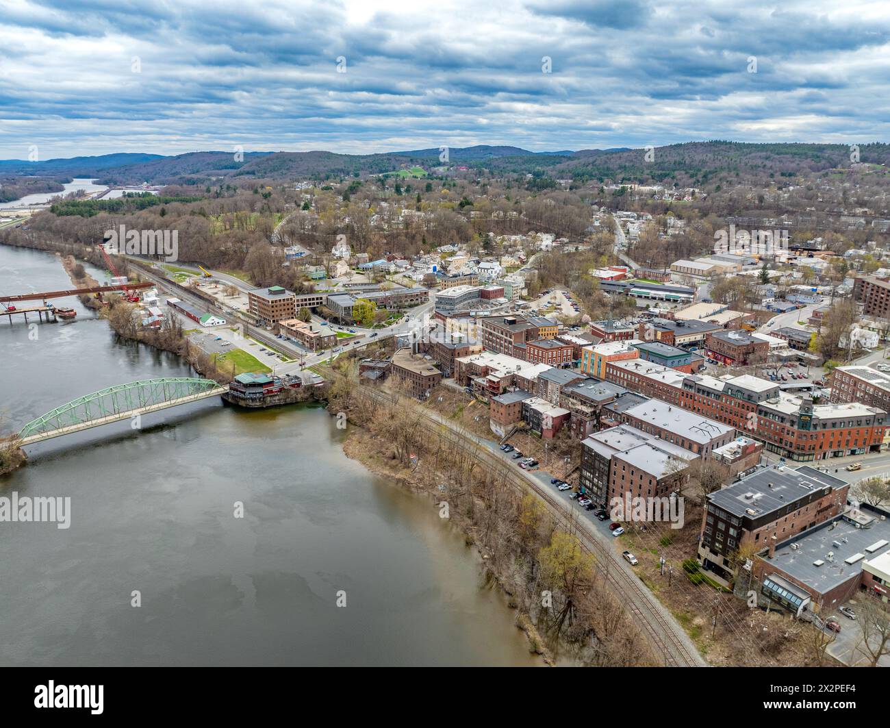
<svg viewBox="0 0 890 728">
<path fill-rule="evenodd" d="M 21 428 L 20 444 L 33 445 L 35 442 L 109 425 L 136 415 L 157 412 L 158 409 L 205 400 L 227 390 L 228 387 L 217 384 L 212 379 L 189 376 L 115 384 L 66 402 L 43 417 L 31 420 Z"/>
</svg>

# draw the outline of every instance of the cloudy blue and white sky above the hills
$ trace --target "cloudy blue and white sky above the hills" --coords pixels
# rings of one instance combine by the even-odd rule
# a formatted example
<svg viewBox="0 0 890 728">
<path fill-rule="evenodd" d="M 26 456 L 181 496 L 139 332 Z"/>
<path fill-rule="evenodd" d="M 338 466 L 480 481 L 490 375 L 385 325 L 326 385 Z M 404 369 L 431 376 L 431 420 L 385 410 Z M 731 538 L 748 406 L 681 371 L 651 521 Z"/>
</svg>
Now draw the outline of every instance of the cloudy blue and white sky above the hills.
<svg viewBox="0 0 890 728">
<path fill-rule="evenodd" d="M 0 158 L 707 139 L 890 141 L 890 2 L 0 0 Z"/>
</svg>

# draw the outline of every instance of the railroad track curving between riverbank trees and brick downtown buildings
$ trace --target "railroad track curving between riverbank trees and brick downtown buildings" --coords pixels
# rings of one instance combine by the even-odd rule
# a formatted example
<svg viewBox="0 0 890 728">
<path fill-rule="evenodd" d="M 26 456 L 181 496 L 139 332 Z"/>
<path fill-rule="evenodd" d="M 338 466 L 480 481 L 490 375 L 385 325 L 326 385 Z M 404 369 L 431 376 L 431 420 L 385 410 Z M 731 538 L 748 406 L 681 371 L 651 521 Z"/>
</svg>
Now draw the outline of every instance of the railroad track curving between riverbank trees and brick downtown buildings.
<svg viewBox="0 0 890 728">
<path fill-rule="evenodd" d="M 333 369 L 328 367 L 325 367 L 325 369 L 328 371 L 329 376 L 334 376 Z M 360 388 L 358 392 L 362 396 L 367 396 L 372 400 L 386 404 L 392 405 L 399 402 L 397 397 L 388 395 L 385 392 L 364 388 Z M 469 451 L 473 456 L 487 463 L 490 468 L 503 475 L 505 482 L 514 487 L 514 489 L 521 492 L 530 489 L 546 503 L 551 513 L 559 521 L 568 523 L 570 526 L 578 525 L 577 531 L 580 536 L 581 547 L 587 554 L 594 556 L 596 567 L 603 575 L 603 578 L 624 597 L 623 601 L 628 611 L 634 615 L 655 650 L 663 656 L 666 667 L 704 667 L 707 665 L 697 652 L 693 654 L 690 651 L 684 643 L 684 639 L 678 634 L 678 630 L 681 630 L 682 627 L 671 624 L 665 618 L 660 609 L 661 605 L 656 601 L 655 597 L 645 589 L 635 576 L 627 574 L 627 571 L 619 562 L 618 556 L 595 538 L 587 527 L 587 523 L 579 521 L 574 517 L 577 514 L 573 514 L 570 507 L 567 509 L 565 503 L 555 498 L 553 493 L 541 487 L 541 484 L 535 481 L 533 477 L 526 473 L 515 471 L 494 452 L 481 444 L 481 442 L 455 433 L 448 425 L 433 417 L 432 413 L 422 410 L 417 410 L 417 412 L 423 417 L 423 420 L 418 424 L 432 430 L 440 437 L 444 436 L 449 441 L 449 444 Z"/>
</svg>

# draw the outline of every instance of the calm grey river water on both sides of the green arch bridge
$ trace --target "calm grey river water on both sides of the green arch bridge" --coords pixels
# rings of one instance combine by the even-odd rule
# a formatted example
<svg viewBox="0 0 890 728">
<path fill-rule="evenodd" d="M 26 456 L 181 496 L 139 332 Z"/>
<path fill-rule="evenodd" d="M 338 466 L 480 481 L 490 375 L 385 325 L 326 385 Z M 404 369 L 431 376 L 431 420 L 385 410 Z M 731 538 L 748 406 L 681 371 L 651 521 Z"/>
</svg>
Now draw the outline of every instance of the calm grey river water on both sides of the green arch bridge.
<svg viewBox="0 0 890 728">
<path fill-rule="evenodd" d="M 57 257 L 0 246 L 0 292 L 68 286 Z M 76 321 L 0 316 L 7 427 L 110 384 L 193 376 L 64 304 Z M 0 664 L 539 664 L 463 538 L 345 457 L 335 423 L 204 400 L 29 448 L 0 497 L 70 497 L 71 522 L 0 522 Z"/>
</svg>

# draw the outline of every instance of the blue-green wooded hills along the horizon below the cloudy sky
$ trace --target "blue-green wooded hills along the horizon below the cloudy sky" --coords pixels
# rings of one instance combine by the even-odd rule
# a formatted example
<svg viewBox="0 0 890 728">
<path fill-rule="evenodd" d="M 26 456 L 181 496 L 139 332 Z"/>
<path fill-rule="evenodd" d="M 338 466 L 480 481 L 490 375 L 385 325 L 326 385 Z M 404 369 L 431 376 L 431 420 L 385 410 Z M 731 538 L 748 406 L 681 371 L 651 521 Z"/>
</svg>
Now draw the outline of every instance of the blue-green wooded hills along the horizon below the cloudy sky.
<svg viewBox="0 0 890 728">
<path fill-rule="evenodd" d="M 536 174 L 579 181 L 692 182 L 703 184 L 719 175 L 754 171 L 757 174 L 813 173 L 850 166 L 844 144 L 749 144 L 743 142 L 686 142 L 658 147 L 653 158 L 645 150 L 619 147 L 607 150 L 533 152 L 521 147 L 449 147 L 449 164 L 489 169 L 495 174 Z M 862 144 L 862 162 L 890 165 L 890 146 Z M 100 157 L 0 161 L 0 176 L 31 175 L 47 179 L 91 176 L 110 184 L 209 184 L 229 177 L 256 180 L 300 178 L 336 179 L 356 174 L 382 174 L 406 166 L 440 166 L 439 147 L 380 154 L 337 154 L 330 151 L 246 152 L 235 159 L 228 151 L 196 151 L 174 157 L 158 154 L 107 154 Z"/>
</svg>

